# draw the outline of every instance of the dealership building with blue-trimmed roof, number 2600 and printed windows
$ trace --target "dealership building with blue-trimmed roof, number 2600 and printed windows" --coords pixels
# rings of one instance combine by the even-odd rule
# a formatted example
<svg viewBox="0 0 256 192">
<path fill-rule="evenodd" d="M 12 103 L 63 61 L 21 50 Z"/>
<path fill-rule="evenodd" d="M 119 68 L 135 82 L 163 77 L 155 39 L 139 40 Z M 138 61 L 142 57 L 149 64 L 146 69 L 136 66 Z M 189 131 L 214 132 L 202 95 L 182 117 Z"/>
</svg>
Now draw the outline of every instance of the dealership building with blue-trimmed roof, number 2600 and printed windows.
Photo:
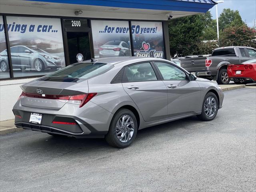
<svg viewBox="0 0 256 192">
<path fill-rule="evenodd" d="M 168 19 L 205 13 L 213 0 L 1 0 L 0 121 L 20 85 L 91 58 L 170 60 Z"/>
</svg>

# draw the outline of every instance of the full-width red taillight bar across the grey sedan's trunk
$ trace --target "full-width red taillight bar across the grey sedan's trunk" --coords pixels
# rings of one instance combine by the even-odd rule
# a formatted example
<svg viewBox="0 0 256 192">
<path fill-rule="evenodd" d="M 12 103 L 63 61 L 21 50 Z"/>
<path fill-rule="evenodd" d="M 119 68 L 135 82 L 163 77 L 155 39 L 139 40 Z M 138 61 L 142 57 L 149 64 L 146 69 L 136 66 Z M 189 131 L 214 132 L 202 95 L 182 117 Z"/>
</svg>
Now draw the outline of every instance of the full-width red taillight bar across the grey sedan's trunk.
<svg viewBox="0 0 256 192">
<path fill-rule="evenodd" d="M 80 95 L 72 95 L 72 96 L 62 96 L 62 95 L 45 95 L 45 94 L 34 94 L 34 93 L 25 93 L 22 92 L 18 100 L 24 97 L 32 97 L 32 98 L 42 98 L 42 99 L 56 99 L 62 102 L 78 104 L 79 107 L 84 106 L 88 101 L 90 101 L 97 93 L 88 93 L 88 94 L 80 94 Z"/>
</svg>

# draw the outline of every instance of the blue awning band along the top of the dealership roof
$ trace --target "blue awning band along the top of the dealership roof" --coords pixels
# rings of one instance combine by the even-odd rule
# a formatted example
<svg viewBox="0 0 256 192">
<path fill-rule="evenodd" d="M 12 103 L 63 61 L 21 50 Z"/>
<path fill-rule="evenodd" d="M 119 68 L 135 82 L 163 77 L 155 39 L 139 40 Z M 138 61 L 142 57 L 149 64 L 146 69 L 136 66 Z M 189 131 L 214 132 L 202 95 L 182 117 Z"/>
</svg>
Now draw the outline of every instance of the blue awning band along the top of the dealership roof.
<svg viewBox="0 0 256 192">
<path fill-rule="evenodd" d="M 33 0 L 61 4 L 106 6 L 144 10 L 165 10 L 205 13 L 216 3 L 213 0 Z"/>
</svg>

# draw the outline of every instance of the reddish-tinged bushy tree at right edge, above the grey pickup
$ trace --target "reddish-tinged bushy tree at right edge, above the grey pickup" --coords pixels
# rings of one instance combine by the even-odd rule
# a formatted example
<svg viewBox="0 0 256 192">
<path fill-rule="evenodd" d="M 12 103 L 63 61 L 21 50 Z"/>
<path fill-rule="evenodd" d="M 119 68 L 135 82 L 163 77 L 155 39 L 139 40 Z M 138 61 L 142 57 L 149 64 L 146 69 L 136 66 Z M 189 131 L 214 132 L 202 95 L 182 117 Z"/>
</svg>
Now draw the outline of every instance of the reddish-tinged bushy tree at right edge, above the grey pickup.
<svg viewBox="0 0 256 192">
<path fill-rule="evenodd" d="M 230 26 L 220 37 L 220 46 L 250 46 L 256 48 L 256 30 L 246 25 Z"/>
</svg>

